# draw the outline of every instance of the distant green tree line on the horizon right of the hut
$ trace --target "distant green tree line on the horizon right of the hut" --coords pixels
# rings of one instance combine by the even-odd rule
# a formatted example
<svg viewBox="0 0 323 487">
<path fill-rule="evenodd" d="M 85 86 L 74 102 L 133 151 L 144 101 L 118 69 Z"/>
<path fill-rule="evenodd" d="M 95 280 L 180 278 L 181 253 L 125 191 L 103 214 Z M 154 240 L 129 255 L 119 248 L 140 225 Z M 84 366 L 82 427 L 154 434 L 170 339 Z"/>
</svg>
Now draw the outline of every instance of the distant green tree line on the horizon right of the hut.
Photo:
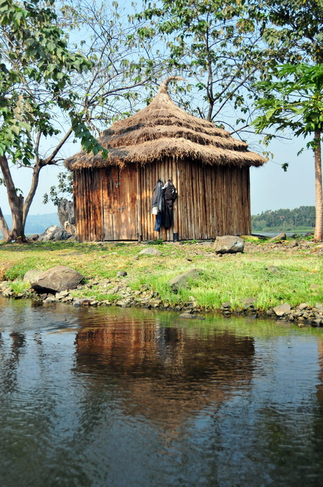
<svg viewBox="0 0 323 487">
<path fill-rule="evenodd" d="M 267 209 L 260 215 L 251 216 L 253 232 L 312 230 L 315 225 L 315 207 L 301 206 L 295 209 Z"/>
</svg>

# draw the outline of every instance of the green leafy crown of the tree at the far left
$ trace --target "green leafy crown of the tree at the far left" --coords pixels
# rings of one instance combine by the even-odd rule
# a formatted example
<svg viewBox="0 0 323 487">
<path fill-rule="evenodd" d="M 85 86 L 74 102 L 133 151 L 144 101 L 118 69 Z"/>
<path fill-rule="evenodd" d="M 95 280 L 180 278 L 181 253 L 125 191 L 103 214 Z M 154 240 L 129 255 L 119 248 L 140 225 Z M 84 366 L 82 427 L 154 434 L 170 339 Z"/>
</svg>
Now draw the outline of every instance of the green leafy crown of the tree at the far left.
<svg viewBox="0 0 323 487">
<path fill-rule="evenodd" d="M 67 102 L 60 93 L 72 86 L 73 72 L 85 72 L 92 63 L 69 51 L 53 0 L 25 1 L 23 6 L 0 0 L 0 29 L 5 61 L 0 72 L 0 155 L 30 165 L 35 156 L 32 132 L 58 133 L 51 104 L 75 112 L 77 97 L 71 94 Z M 89 133 L 84 130 L 83 137 Z"/>
</svg>

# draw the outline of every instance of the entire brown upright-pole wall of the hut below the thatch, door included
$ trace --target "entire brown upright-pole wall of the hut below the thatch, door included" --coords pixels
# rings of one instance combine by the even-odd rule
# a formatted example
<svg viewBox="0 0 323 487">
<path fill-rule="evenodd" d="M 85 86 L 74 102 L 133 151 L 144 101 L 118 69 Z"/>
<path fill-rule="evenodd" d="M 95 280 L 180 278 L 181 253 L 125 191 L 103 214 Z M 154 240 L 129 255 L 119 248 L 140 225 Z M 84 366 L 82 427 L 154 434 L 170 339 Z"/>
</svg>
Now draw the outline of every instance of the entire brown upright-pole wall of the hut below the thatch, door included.
<svg viewBox="0 0 323 487">
<path fill-rule="evenodd" d="M 151 196 L 158 179 L 171 179 L 179 197 L 174 227 L 154 231 Z M 165 158 L 136 168 L 74 173 L 76 234 L 85 241 L 214 239 L 251 233 L 249 168 L 201 166 Z"/>
</svg>

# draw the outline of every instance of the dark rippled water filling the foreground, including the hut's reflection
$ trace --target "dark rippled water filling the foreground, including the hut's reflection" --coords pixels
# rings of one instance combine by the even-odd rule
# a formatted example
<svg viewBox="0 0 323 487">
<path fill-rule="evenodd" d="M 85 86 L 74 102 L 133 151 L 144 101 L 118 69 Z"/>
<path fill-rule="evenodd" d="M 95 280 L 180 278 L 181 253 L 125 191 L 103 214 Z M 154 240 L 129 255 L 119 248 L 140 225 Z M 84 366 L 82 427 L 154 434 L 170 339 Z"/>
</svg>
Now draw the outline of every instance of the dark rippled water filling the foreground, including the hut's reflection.
<svg viewBox="0 0 323 487">
<path fill-rule="evenodd" d="M 0 486 L 323 485 L 323 330 L 0 298 Z"/>
</svg>

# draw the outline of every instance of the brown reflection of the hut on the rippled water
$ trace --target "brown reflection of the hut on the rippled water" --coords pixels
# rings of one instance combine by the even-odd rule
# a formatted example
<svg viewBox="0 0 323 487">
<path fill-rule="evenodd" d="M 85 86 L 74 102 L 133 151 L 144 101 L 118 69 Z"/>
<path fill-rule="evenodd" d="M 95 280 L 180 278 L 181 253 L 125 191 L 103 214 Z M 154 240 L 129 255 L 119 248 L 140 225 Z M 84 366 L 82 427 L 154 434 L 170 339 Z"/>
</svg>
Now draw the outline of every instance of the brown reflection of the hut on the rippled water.
<svg viewBox="0 0 323 487">
<path fill-rule="evenodd" d="M 252 378 L 254 340 L 207 330 L 142 323 L 124 315 L 76 335 L 76 367 L 118 385 L 123 408 L 179 424 L 193 410 L 223 404 Z"/>
</svg>

